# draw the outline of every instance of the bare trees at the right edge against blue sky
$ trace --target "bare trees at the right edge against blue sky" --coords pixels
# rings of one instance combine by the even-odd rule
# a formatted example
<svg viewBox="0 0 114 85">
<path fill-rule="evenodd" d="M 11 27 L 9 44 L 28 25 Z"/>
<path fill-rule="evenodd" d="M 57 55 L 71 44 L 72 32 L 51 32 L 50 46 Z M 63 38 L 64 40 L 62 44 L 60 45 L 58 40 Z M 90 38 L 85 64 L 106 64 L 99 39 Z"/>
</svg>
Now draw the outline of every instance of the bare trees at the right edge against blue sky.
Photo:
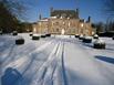
<svg viewBox="0 0 114 85">
<path fill-rule="evenodd" d="M 106 22 L 93 23 L 96 28 L 96 33 L 114 32 L 114 0 L 103 0 L 103 13 L 106 18 Z"/>
</svg>

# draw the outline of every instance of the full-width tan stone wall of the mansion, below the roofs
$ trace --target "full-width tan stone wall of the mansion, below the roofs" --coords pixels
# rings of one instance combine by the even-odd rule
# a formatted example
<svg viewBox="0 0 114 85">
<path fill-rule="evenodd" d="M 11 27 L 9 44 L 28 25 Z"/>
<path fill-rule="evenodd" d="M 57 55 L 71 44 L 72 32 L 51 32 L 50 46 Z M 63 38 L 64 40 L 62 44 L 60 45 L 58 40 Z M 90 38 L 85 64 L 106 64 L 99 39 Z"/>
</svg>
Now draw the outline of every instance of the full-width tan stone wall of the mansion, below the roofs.
<svg viewBox="0 0 114 85">
<path fill-rule="evenodd" d="M 92 35 L 91 23 L 80 22 L 79 19 L 49 19 L 39 21 L 34 28 L 37 33 L 61 34 L 64 30 L 65 34 Z"/>
</svg>

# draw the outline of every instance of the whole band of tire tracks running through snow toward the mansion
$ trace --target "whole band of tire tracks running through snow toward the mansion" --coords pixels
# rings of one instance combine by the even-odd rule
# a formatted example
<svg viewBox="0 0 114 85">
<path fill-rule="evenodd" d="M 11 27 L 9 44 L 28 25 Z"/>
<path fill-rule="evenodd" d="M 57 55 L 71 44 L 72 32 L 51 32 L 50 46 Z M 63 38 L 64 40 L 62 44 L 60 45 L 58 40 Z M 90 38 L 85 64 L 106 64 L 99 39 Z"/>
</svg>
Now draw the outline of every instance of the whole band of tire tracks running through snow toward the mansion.
<svg viewBox="0 0 114 85">
<path fill-rule="evenodd" d="M 37 78 L 37 81 L 35 81 Z M 30 85 L 68 85 L 64 66 L 64 43 L 59 42 Z"/>
</svg>

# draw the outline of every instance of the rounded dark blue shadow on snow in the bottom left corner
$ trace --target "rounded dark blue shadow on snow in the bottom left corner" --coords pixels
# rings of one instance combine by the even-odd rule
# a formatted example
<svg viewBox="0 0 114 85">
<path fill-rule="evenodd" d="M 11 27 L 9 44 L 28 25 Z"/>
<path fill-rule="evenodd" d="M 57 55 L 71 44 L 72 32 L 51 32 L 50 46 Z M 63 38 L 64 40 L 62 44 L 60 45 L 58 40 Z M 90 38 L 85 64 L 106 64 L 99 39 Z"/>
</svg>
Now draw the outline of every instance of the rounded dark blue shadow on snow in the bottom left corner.
<svg viewBox="0 0 114 85">
<path fill-rule="evenodd" d="M 4 75 L 1 77 L 1 85 L 21 85 L 22 75 L 18 70 L 8 67 Z"/>
</svg>

